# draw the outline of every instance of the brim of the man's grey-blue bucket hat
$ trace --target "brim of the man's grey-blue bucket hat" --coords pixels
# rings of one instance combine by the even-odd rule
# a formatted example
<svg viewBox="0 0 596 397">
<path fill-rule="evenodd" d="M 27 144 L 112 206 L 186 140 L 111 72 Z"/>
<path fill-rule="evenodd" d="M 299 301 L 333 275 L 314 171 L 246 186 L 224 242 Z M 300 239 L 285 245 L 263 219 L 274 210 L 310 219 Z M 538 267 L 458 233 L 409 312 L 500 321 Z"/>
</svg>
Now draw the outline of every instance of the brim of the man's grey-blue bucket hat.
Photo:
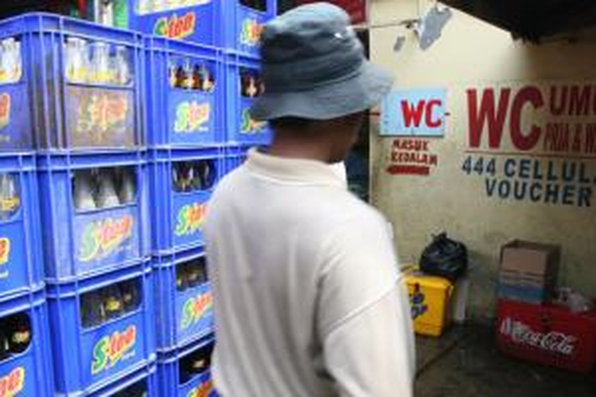
<svg viewBox="0 0 596 397">
<path fill-rule="evenodd" d="M 351 79 L 297 92 L 265 92 L 250 108 L 253 120 L 267 121 L 280 117 L 312 120 L 331 118 L 367 110 L 378 104 L 393 85 L 389 73 L 365 61 L 360 73 Z"/>
</svg>

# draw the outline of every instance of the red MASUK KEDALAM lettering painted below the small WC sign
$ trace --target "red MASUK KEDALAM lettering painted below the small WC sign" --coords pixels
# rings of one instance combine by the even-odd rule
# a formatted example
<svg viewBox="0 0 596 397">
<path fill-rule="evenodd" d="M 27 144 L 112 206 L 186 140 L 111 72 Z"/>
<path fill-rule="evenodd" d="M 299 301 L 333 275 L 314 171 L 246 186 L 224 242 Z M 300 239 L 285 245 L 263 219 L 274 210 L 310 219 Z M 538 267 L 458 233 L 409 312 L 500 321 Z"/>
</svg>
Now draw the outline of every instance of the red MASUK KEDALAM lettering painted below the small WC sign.
<svg viewBox="0 0 596 397">
<path fill-rule="evenodd" d="M 387 173 L 392 175 L 430 175 L 439 164 L 439 156 L 430 151 L 430 139 L 400 138 L 393 140 L 391 162 Z"/>
</svg>

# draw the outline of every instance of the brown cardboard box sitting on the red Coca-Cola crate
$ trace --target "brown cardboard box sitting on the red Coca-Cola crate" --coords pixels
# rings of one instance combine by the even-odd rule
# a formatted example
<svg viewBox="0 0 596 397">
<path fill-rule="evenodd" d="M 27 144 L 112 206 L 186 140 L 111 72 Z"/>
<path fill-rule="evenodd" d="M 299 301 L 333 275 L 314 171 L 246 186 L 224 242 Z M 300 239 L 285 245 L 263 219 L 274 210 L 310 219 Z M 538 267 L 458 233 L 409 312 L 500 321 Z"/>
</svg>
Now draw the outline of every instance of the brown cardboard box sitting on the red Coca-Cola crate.
<svg viewBox="0 0 596 397">
<path fill-rule="evenodd" d="M 499 297 L 541 304 L 557 283 L 561 248 L 514 240 L 501 249 Z"/>
</svg>

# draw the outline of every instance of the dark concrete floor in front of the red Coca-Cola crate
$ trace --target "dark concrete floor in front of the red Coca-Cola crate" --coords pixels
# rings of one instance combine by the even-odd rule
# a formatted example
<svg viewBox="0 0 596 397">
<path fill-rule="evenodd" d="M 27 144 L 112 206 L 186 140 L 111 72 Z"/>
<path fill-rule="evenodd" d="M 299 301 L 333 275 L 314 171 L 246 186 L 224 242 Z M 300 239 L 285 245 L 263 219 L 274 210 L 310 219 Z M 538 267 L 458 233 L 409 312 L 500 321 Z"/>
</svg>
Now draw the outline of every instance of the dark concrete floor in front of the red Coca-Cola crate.
<svg viewBox="0 0 596 397">
<path fill-rule="evenodd" d="M 588 376 L 505 357 L 489 327 L 454 327 L 418 337 L 416 397 L 595 397 Z"/>
</svg>

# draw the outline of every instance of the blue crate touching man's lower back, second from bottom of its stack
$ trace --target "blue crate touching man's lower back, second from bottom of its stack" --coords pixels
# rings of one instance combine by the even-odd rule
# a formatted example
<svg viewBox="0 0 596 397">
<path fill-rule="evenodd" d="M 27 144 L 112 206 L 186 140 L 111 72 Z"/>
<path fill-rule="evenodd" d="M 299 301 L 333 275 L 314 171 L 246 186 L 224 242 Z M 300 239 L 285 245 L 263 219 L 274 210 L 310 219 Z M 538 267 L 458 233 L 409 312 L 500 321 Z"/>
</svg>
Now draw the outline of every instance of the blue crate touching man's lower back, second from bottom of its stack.
<svg viewBox="0 0 596 397">
<path fill-rule="evenodd" d="M 157 349 L 177 348 L 213 333 L 213 292 L 204 251 L 159 255 L 153 272 Z"/>
</svg>

